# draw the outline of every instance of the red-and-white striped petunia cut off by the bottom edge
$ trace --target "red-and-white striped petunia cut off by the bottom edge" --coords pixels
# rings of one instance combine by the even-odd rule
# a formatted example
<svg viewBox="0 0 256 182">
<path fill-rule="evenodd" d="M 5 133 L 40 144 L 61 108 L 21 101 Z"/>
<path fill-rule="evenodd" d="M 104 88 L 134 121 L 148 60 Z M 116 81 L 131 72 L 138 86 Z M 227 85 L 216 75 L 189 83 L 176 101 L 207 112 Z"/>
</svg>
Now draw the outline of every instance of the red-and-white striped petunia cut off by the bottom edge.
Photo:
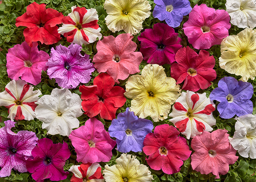
<svg viewBox="0 0 256 182">
<path fill-rule="evenodd" d="M 71 166 L 69 169 L 74 175 L 71 177 L 71 182 L 104 182 L 105 179 L 101 174 L 101 166 L 99 163 L 87 163 Z"/>
</svg>

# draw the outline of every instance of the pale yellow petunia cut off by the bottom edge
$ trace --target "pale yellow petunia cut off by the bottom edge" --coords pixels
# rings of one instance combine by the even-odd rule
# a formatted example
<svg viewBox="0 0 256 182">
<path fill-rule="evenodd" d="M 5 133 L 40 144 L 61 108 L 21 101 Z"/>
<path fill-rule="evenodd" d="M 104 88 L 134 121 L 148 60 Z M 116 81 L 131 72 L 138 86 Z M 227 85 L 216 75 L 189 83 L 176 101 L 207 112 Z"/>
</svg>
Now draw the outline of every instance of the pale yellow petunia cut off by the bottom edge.
<svg viewBox="0 0 256 182">
<path fill-rule="evenodd" d="M 148 167 L 139 164 L 136 156 L 121 154 L 116 163 L 113 166 L 105 166 L 103 174 L 106 182 L 151 182 L 153 180 Z"/>
</svg>

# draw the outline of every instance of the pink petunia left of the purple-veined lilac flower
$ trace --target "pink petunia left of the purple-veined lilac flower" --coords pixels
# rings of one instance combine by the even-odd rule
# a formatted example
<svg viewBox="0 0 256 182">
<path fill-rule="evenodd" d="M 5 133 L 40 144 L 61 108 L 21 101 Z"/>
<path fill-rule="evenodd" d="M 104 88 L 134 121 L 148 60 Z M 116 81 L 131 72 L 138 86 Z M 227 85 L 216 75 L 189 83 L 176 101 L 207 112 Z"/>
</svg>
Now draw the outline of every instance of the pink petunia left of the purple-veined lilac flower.
<svg viewBox="0 0 256 182">
<path fill-rule="evenodd" d="M 18 80 L 21 76 L 21 80 L 33 85 L 40 83 L 41 72 L 46 71 L 50 56 L 43 50 L 39 51 L 37 45 L 37 42 L 33 42 L 30 47 L 23 42 L 8 50 L 6 67 L 9 78 Z"/>
</svg>

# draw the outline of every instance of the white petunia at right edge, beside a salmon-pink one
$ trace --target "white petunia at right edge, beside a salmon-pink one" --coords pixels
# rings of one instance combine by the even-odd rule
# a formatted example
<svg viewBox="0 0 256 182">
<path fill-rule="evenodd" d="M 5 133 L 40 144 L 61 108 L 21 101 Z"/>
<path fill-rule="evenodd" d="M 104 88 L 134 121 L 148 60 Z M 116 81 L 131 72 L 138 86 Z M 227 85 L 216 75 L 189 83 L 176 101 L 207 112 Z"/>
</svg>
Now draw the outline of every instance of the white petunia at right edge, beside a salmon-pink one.
<svg viewBox="0 0 256 182">
<path fill-rule="evenodd" d="M 230 144 L 244 158 L 256 158 L 256 115 L 246 114 L 235 118 L 235 133 L 228 137 Z"/>
</svg>

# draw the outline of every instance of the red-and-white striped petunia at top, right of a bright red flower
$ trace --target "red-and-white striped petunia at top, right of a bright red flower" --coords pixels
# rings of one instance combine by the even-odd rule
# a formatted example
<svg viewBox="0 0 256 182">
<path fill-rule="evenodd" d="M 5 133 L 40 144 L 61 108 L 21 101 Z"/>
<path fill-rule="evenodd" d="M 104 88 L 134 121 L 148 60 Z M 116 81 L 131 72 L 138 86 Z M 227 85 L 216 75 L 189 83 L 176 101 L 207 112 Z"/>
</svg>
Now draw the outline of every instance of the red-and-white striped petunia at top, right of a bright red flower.
<svg viewBox="0 0 256 182">
<path fill-rule="evenodd" d="M 72 12 L 62 18 L 62 27 L 58 33 L 67 37 L 67 42 L 79 45 L 95 42 L 97 37 L 101 39 L 97 11 L 94 8 L 71 7 Z"/>
</svg>

